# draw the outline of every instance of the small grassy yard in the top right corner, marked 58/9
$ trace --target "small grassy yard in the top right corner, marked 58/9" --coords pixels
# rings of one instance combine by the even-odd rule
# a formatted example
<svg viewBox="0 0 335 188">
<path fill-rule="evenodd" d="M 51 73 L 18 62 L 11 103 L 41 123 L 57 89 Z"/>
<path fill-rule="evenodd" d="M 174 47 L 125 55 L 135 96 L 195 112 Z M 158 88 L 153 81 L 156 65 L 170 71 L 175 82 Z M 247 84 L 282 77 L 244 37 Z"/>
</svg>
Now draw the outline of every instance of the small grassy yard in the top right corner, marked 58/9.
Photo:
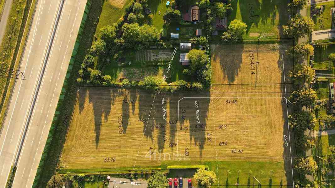
<svg viewBox="0 0 335 188">
<path fill-rule="evenodd" d="M 322 11 L 316 11 L 315 8 L 319 6 Z M 315 23 L 314 31 L 332 29 L 334 28 L 334 18 L 331 13 L 331 8 L 335 7 L 335 2 L 317 3 L 309 6 L 313 21 Z M 314 10 L 314 12 L 312 12 Z"/>
</svg>

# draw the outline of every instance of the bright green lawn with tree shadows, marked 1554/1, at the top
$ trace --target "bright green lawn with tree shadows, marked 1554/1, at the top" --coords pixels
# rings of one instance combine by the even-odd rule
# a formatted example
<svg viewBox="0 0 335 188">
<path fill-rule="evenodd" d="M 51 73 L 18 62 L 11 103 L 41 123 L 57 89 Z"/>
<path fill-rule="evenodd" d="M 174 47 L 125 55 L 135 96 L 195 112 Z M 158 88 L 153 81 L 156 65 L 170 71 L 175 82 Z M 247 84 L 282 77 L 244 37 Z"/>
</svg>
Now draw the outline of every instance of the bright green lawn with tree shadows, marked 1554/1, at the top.
<svg viewBox="0 0 335 188">
<path fill-rule="evenodd" d="M 231 20 L 239 19 L 247 24 L 247 33 L 244 39 L 280 38 L 280 30 L 287 23 L 287 1 L 283 0 L 232 0 L 232 13 L 228 17 L 228 25 Z"/>
</svg>

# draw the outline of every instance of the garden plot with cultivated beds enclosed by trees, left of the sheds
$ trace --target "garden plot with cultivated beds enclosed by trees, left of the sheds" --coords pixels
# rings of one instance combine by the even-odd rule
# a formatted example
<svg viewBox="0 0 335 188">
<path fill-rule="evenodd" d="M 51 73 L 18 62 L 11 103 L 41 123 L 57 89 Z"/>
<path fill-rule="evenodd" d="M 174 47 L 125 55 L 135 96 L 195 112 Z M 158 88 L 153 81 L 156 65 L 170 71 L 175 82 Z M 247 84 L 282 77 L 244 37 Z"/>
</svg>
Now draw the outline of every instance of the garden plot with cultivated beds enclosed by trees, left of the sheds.
<svg viewBox="0 0 335 188">
<path fill-rule="evenodd" d="M 188 50 L 189 51 L 189 50 Z M 187 53 L 186 50 L 177 50 L 173 61 L 172 67 L 169 71 L 168 78 L 166 81 L 174 82 L 180 79 L 185 81 L 191 81 L 191 76 L 184 75 L 183 70 L 188 68 L 183 66 L 179 62 L 179 54 Z M 154 76 L 162 78 L 164 71 L 169 64 L 173 49 L 144 49 L 141 51 L 128 51 L 122 63 L 124 65 L 119 66 L 118 63 L 111 57 L 111 62 L 108 66 L 105 66 L 103 74 L 111 75 L 112 79 L 119 81 L 120 79 L 127 78 L 128 80 L 140 81 L 145 76 Z M 131 62 L 129 65 L 128 63 Z"/>
</svg>

